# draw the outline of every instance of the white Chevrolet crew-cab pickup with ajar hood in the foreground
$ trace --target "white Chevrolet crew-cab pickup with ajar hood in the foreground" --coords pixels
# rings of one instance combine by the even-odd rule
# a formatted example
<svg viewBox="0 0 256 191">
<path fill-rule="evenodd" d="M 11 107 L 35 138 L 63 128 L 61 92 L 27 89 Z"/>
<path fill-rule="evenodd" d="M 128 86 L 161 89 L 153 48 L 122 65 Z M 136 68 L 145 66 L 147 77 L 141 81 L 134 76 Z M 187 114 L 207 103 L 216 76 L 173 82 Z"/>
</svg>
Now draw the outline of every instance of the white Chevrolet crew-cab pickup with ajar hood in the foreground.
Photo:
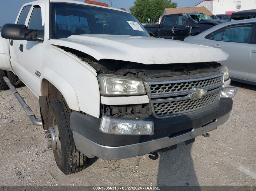
<svg viewBox="0 0 256 191">
<path fill-rule="evenodd" d="M 237 88 L 222 50 L 151 38 L 123 9 L 70 0 L 22 6 L 0 38 L 0 88 L 15 94 L 65 174 L 88 158 L 173 149 L 225 123 Z M 14 87 L 40 99 L 38 120 Z M 154 156 L 153 156 L 154 155 Z"/>
</svg>

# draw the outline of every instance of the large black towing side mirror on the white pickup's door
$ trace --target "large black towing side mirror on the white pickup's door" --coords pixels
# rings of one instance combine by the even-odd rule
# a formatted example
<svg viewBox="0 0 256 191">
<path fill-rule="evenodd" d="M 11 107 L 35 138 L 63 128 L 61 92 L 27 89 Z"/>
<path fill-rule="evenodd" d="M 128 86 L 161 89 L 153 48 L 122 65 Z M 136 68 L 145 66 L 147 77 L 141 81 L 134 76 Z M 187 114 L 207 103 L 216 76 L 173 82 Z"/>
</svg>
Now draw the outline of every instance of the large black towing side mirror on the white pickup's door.
<svg viewBox="0 0 256 191">
<path fill-rule="evenodd" d="M 24 24 L 5 24 L 1 30 L 1 36 L 10 40 L 27 40 L 44 42 L 44 30 L 28 29 Z"/>
</svg>

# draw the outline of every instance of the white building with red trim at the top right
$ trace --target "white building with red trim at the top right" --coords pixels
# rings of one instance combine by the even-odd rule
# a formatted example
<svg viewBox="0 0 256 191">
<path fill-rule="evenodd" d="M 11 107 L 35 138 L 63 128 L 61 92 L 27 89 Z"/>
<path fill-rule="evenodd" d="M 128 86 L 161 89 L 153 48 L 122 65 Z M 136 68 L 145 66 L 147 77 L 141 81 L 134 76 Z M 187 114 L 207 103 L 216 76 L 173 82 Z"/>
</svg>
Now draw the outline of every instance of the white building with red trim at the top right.
<svg viewBox="0 0 256 191">
<path fill-rule="evenodd" d="M 195 5 L 202 6 L 213 14 L 232 14 L 236 11 L 256 9 L 256 0 L 203 0 Z"/>
</svg>

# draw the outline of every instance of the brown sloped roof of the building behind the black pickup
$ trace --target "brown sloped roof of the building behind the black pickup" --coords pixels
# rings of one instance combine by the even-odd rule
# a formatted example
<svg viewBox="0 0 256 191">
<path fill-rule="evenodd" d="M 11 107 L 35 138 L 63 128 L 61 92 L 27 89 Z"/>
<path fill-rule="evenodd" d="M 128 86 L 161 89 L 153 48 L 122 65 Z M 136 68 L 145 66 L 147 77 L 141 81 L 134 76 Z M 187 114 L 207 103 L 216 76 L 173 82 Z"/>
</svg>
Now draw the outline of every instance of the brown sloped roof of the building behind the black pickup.
<svg viewBox="0 0 256 191">
<path fill-rule="evenodd" d="M 204 6 L 198 6 L 198 7 L 183 7 L 183 8 L 167 8 L 165 9 L 163 16 L 167 14 L 190 13 L 190 12 L 199 12 L 207 15 L 212 15 L 211 11 L 209 11 Z"/>
</svg>

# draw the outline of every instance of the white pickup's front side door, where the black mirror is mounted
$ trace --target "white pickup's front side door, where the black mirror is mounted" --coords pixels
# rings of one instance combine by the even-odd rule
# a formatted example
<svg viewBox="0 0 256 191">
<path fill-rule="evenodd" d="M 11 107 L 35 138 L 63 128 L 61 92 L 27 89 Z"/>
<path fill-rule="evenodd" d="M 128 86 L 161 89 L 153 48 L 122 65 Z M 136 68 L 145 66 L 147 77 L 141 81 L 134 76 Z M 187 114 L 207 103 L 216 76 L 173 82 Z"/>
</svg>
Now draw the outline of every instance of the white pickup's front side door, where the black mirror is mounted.
<svg viewBox="0 0 256 191">
<path fill-rule="evenodd" d="M 43 3 L 32 4 L 32 11 L 30 11 L 29 16 L 26 22 L 28 29 L 44 29 L 45 5 Z M 20 50 L 20 63 L 22 65 L 20 78 L 38 97 L 41 95 L 40 75 L 46 42 L 46 40 L 43 43 L 20 41 L 20 46 L 22 47 Z"/>
</svg>

